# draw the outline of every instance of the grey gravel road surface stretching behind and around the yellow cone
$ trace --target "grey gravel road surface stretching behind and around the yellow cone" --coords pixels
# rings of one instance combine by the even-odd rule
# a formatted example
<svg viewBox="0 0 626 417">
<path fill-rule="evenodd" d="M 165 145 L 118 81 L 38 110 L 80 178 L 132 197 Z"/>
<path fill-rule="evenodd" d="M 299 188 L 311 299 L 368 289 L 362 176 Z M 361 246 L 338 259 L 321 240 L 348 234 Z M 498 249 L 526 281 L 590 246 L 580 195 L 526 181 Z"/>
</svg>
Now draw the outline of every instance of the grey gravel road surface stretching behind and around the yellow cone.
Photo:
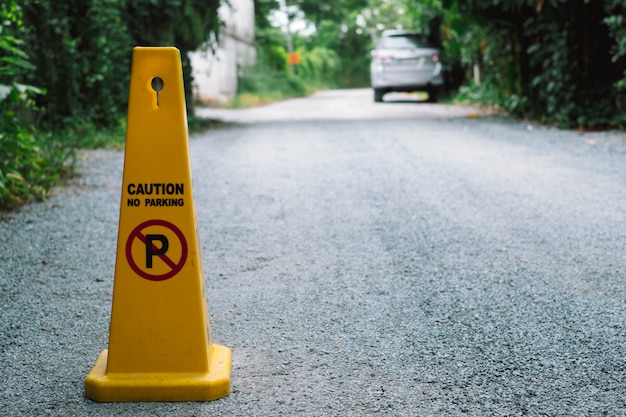
<svg viewBox="0 0 626 417">
<path fill-rule="evenodd" d="M 626 416 L 626 134 L 327 91 L 201 109 L 214 402 L 96 403 L 123 153 L 0 220 L 5 416 Z"/>
</svg>

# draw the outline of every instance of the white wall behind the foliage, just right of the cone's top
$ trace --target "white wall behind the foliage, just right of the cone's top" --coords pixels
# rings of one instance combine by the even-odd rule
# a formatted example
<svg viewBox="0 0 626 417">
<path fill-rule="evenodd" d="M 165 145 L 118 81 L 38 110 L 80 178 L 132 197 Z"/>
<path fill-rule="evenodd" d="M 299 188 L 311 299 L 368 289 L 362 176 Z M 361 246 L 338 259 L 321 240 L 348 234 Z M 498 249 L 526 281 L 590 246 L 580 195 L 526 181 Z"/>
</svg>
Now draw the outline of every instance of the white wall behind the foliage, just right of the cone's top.
<svg viewBox="0 0 626 417">
<path fill-rule="evenodd" d="M 222 0 L 219 15 L 225 22 L 215 53 L 191 53 L 194 96 L 205 103 L 221 102 L 237 92 L 237 71 L 256 60 L 254 1 Z"/>
</svg>

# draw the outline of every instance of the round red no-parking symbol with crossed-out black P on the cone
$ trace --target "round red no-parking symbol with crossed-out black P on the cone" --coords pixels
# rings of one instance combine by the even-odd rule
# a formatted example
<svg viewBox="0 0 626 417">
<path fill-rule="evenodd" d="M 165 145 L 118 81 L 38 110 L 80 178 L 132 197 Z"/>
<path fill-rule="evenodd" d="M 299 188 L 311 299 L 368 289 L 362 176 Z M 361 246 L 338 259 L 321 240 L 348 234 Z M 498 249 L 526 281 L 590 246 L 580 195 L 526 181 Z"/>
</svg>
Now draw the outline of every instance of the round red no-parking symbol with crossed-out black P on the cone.
<svg viewBox="0 0 626 417">
<path fill-rule="evenodd" d="M 183 232 L 166 220 L 148 220 L 135 227 L 126 241 L 131 269 L 150 281 L 165 281 L 180 272 L 187 260 Z"/>
</svg>

